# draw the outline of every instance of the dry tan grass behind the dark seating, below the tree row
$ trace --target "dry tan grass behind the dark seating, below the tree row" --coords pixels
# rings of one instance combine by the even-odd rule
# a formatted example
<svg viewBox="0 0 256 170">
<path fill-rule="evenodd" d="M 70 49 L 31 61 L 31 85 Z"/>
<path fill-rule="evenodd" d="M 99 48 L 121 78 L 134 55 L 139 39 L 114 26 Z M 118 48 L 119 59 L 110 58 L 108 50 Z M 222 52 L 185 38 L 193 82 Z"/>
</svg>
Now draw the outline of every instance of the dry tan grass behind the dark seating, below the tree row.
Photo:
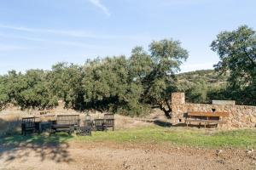
<svg viewBox="0 0 256 170">
<path fill-rule="evenodd" d="M 73 110 L 65 110 L 60 107 L 57 107 L 54 111 L 47 113 L 47 115 L 40 116 L 39 112 L 40 111 L 35 111 L 35 110 L 20 111 L 19 108 L 15 108 L 15 107 L 0 111 L 0 136 L 10 135 L 10 134 L 20 132 L 20 120 L 22 117 L 37 116 L 39 117 L 40 121 L 49 122 L 49 121 L 55 120 L 56 115 L 79 114 L 81 123 L 83 123 L 83 120 L 85 119 L 85 115 L 87 114 L 85 112 L 82 113 L 82 112 L 73 111 Z M 89 114 L 92 119 L 103 118 L 104 116 L 104 113 L 98 112 L 98 111 L 96 111 L 96 113 L 89 112 Z M 160 114 L 156 114 L 156 115 L 160 115 Z M 143 122 L 143 121 L 140 121 L 139 118 L 131 118 L 128 116 L 115 115 L 114 118 L 115 118 L 115 129 L 148 127 L 154 124 L 153 122 Z M 148 116 L 148 118 L 155 118 L 155 117 Z"/>
</svg>

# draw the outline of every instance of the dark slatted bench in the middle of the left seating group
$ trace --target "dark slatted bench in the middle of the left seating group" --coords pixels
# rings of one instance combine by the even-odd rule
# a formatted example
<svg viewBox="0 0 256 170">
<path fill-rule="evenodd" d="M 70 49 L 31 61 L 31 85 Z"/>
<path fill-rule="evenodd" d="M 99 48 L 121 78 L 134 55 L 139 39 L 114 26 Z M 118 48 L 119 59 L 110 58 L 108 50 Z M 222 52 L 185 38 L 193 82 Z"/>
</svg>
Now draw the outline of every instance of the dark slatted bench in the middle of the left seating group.
<svg viewBox="0 0 256 170">
<path fill-rule="evenodd" d="M 71 134 L 79 127 L 79 115 L 57 115 L 56 121 L 51 125 L 51 132 L 67 132 Z"/>
</svg>

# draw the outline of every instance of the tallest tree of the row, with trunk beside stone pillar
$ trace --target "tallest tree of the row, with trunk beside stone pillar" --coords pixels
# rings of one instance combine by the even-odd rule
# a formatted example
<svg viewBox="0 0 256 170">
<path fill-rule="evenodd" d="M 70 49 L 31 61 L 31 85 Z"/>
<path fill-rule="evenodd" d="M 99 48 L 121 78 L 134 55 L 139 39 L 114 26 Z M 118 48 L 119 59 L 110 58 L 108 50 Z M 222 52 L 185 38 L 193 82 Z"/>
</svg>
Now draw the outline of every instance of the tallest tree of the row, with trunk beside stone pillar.
<svg viewBox="0 0 256 170">
<path fill-rule="evenodd" d="M 168 99 L 176 88 L 175 73 L 180 71 L 180 65 L 189 54 L 181 47 L 181 42 L 167 39 L 152 42 L 149 45 L 149 51 L 153 69 L 146 77 L 148 88 L 146 88 L 145 99 L 148 99 L 151 104 L 159 105 L 166 116 L 171 117 L 169 114 L 172 109 Z"/>
</svg>

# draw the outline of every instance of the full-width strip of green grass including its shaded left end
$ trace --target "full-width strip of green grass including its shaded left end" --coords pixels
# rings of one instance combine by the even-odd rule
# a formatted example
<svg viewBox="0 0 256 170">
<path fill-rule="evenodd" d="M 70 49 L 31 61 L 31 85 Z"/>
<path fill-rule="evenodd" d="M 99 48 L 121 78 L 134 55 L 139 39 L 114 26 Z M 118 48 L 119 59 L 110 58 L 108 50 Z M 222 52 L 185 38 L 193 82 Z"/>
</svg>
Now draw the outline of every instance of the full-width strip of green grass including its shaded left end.
<svg viewBox="0 0 256 170">
<path fill-rule="evenodd" d="M 166 143 L 175 145 L 198 146 L 204 148 L 256 148 L 256 130 L 210 131 L 186 127 L 141 127 L 108 132 L 93 132 L 92 136 L 68 136 L 58 133 L 52 136 L 15 135 L 0 139 L 3 144 L 32 143 L 50 144 L 76 142 L 115 142 L 115 143 Z"/>
</svg>

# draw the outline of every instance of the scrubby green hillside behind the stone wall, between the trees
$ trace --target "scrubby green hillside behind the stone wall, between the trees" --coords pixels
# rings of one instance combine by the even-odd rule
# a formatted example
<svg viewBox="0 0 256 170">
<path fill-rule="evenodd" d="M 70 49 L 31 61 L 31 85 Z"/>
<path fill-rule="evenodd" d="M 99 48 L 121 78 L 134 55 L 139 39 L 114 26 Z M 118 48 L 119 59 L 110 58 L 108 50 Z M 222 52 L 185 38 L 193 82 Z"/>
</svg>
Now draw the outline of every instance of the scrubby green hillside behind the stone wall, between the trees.
<svg viewBox="0 0 256 170">
<path fill-rule="evenodd" d="M 177 91 L 186 94 L 191 103 L 211 103 L 212 99 L 226 99 L 222 91 L 227 85 L 227 75 L 214 70 L 189 71 L 177 74 Z"/>
</svg>

